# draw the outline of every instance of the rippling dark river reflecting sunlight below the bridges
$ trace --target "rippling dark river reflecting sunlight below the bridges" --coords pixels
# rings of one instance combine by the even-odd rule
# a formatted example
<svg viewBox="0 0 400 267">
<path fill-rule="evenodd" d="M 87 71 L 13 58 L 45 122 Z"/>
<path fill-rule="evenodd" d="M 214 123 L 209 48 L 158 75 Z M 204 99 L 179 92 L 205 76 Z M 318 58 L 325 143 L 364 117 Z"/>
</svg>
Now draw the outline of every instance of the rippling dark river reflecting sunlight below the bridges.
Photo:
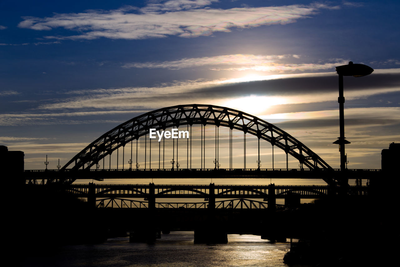
<svg viewBox="0 0 400 267">
<path fill-rule="evenodd" d="M 162 234 L 153 244 L 110 238 L 94 245 L 68 245 L 51 256 L 26 258 L 22 266 L 57 267 L 279 267 L 290 242 L 270 243 L 257 235 L 228 235 L 227 244 L 194 244 L 193 231 Z"/>
</svg>

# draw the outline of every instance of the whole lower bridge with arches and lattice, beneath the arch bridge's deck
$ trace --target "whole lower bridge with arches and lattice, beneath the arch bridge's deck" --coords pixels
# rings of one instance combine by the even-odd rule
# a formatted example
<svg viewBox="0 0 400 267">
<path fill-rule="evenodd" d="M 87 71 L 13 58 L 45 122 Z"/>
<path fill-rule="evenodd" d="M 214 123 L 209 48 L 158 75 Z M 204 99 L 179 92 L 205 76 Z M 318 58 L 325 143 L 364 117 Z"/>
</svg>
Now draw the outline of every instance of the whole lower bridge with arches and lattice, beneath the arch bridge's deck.
<svg viewBox="0 0 400 267">
<path fill-rule="evenodd" d="M 276 208 L 276 199 L 285 205 L 300 205 L 300 199 L 316 199 L 332 195 L 329 185 L 133 185 L 133 184 L 72 184 L 54 187 L 52 184 L 31 185 L 62 189 L 75 197 L 87 198 L 98 208 L 194 208 L 194 209 L 265 209 Z M 349 195 L 368 195 L 368 186 L 350 186 Z M 137 200 L 143 199 L 143 200 Z M 185 199 L 184 202 L 156 202 L 156 199 Z M 207 202 L 187 202 L 204 199 Z M 221 199 L 216 201 L 216 199 Z M 262 201 L 261 201 L 262 199 Z M 267 202 L 265 202 L 267 201 Z M 272 205 L 272 206 L 271 206 Z M 284 205 L 278 205 L 283 207 Z"/>
</svg>

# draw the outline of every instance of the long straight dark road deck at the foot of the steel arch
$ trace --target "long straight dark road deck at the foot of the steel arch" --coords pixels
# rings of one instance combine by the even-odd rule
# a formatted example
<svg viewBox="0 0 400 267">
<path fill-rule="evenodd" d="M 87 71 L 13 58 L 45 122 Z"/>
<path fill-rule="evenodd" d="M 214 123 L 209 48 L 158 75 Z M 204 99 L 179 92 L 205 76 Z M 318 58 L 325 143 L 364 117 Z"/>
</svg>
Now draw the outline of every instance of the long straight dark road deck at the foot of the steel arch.
<svg viewBox="0 0 400 267">
<path fill-rule="evenodd" d="M 25 170 L 29 179 L 138 179 L 138 178 L 307 178 L 340 177 L 340 169 L 47 169 Z M 345 175 L 370 179 L 382 175 L 381 169 L 347 169 Z"/>
</svg>

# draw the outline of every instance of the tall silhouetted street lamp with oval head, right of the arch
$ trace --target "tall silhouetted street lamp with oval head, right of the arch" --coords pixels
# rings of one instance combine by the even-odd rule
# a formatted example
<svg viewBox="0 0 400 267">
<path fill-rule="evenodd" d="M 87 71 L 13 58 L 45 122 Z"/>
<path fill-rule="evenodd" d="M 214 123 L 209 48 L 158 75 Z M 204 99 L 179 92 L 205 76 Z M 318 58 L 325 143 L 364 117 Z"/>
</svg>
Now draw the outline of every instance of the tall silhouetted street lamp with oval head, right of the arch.
<svg viewBox="0 0 400 267">
<path fill-rule="evenodd" d="M 345 140 L 344 137 L 344 96 L 343 96 L 343 76 L 362 77 L 371 74 L 374 70 L 364 64 L 353 64 L 349 62 L 348 65 L 336 67 L 336 73 L 339 75 L 339 123 L 340 123 L 340 137 L 334 141 L 334 144 L 339 144 L 340 151 L 340 170 L 346 169 L 347 156 L 344 153 L 344 145 L 350 142 Z M 347 181 L 345 181 L 347 183 Z"/>
</svg>

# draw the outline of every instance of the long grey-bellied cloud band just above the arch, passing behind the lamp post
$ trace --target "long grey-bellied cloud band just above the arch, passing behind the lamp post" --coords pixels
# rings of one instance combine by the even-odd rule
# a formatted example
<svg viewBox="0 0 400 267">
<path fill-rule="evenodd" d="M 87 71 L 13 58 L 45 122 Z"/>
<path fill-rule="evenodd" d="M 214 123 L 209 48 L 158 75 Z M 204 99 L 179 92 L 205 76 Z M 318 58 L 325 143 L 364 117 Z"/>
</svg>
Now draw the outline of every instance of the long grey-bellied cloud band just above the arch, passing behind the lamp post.
<svg viewBox="0 0 400 267">
<path fill-rule="evenodd" d="M 346 100 L 367 98 L 376 94 L 400 91 L 399 72 L 380 73 L 368 78 L 346 79 Z M 267 76 L 268 77 L 268 76 Z M 115 88 L 69 92 L 68 99 L 54 100 L 38 107 L 42 110 L 101 109 L 101 110 L 154 110 L 177 104 L 213 104 L 226 106 L 232 100 L 244 101 L 244 97 L 262 96 L 284 98 L 285 104 L 302 104 L 333 101 L 337 99 L 337 75 L 284 74 L 274 79 L 250 82 L 186 81 L 148 88 Z M 74 96 L 75 95 L 75 96 Z M 274 105 L 272 101 L 271 105 Z M 276 102 L 276 104 L 282 104 Z M 240 105 L 242 106 L 242 105 Z M 248 105 L 250 106 L 250 105 Z M 238 108 L 230 106 L 230 108 Z M 246 110 L 243 110 L 246 112 Z M 257 115 L 257 114 L 254 114 Z"/>
</svg>

